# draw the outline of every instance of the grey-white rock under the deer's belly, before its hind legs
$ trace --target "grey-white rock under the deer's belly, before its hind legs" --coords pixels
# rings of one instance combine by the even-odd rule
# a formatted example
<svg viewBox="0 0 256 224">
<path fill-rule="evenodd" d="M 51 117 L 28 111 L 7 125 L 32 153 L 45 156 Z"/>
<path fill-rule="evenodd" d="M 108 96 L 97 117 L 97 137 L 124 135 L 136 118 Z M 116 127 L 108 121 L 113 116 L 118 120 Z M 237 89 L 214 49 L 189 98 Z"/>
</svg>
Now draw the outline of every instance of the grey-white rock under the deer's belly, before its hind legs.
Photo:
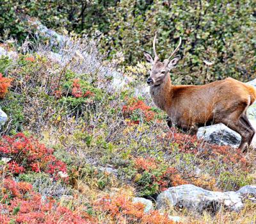
<svg viewBox="0 0 256 224">
<path fill-rule="evenodd" d="M 241 143 L 241 136 L 224 124 L 200 127 L 196 136 L 217 145 L 239 147 Z"/>
</svg>

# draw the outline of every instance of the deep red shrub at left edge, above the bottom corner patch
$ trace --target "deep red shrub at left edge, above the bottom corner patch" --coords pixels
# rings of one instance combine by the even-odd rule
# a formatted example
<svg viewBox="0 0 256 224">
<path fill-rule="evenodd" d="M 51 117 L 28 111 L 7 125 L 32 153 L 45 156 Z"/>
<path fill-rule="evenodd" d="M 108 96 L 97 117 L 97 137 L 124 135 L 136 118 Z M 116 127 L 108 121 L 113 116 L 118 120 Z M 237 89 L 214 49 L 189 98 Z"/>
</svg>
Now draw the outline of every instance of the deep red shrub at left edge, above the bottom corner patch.
<svg viewBox="0 0 256 224">
<path fill-rule="evenodd" d="M 58 172 L 67 172 L 66 164 L 56 159 L 54 150 L 45 147 L 33 137 L 19 133 L 13 137 L 3 136 L 0 141 L 0 155 L 8 157 L 10 173 L 23 173 L 29 170 L 46 172 L 58 179 Z"/>
</svg>

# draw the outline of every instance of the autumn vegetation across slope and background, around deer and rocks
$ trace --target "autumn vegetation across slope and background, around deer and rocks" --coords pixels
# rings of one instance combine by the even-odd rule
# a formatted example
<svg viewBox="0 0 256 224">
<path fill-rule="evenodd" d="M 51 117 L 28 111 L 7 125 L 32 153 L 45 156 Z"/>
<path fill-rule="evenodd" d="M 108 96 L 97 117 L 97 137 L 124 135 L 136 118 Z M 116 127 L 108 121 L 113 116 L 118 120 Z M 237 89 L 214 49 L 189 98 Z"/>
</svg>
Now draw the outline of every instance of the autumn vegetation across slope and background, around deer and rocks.
<svg viewBox="0 0 256 224">
<path fill-rule="evenodd" d="M 8 115 L 0 138 L 0 223 L 175 223 L 169 216 L 181 223 L 255 222 L 249 201 L 240 212 L 157 210 L 157 195 L 173 186 L 236 191 L 256 184 L 256 155 L 169 129 L 143 92 L 149 67 L 142 58 L 157 30 L 163 57 L 182 36 L 173 83 L 253 79 L 255 3 L 48 3 L 0 6 L 0 46 L 15 55 L 0 56 L 0 107 Z M 72 44 L 52 44 L 24 15 Z M 124 86 L 114 84 L 115 74 Z M 154 210 L 144 212 L 135 196 L 152 200 Z"/>
</svg>

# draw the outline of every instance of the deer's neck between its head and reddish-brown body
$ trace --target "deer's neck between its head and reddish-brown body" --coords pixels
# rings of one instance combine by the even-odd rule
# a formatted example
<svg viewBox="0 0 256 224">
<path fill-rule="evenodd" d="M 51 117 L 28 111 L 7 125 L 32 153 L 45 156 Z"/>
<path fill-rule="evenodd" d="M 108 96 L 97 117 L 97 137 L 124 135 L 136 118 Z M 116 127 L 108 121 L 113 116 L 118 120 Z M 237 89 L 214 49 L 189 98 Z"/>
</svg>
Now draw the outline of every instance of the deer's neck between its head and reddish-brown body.
<svg viewBox="0 0 256 224">
<path fill-rule="evenodd" d="M 166 74 L 163 83 L 158 86 L 150 86 L 150 95 L 154 101 L 154 104 L 163 111 L 166 110 L 168 100 L 170 99 L 170 93 L 172 92 L 172 81 L 170 73 Z"/>
</svg>

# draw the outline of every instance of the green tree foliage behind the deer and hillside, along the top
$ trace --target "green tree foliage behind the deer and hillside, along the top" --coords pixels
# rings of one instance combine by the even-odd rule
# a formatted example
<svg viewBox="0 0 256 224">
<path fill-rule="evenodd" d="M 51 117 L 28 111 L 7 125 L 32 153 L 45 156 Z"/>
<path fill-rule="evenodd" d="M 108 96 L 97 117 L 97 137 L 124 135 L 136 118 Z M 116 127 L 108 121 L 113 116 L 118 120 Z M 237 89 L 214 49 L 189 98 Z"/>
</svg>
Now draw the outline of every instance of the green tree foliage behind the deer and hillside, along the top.
<svg viewBox="0 0 256 224">
<path fill-rule="evenodd" d="M 158 31 L 157 50 L 162 58 L 173 51 L 179 36 L 182 60 L 173 78 L 182 83 L 235 77 L 247 81 L 256 70 L 256 1 L 3 1 L 0 31 L 23 38 L 26 24 L 22 14 L 38 17 L 58 31 L 93 35 L 104 33 L 102 51 L 109 58 L 123 52 L 125 65 L 143 61 L 142 51 L 152 51 L 152 39 Z M 214 65 L 207 67 L 203 60 Z"/>
</svg>

